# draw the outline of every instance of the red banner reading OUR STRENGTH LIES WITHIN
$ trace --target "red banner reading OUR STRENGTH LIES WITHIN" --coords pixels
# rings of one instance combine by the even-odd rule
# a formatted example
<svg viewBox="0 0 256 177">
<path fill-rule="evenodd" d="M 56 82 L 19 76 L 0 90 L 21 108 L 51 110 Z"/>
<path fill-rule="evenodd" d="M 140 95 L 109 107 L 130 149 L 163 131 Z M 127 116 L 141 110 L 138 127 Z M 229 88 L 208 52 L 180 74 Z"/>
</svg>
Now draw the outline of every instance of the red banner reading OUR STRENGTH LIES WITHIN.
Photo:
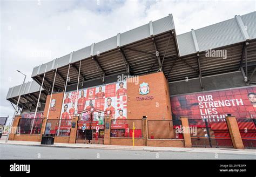
<svg viewBox="0 0 256 177">
<path fill-rule="evenodd" d="M 191 93 L 171 97 L 172 117 L 221 119 L 227 114 L 236 118 L 256 118 L 256 87 Z"/>
</svg>

